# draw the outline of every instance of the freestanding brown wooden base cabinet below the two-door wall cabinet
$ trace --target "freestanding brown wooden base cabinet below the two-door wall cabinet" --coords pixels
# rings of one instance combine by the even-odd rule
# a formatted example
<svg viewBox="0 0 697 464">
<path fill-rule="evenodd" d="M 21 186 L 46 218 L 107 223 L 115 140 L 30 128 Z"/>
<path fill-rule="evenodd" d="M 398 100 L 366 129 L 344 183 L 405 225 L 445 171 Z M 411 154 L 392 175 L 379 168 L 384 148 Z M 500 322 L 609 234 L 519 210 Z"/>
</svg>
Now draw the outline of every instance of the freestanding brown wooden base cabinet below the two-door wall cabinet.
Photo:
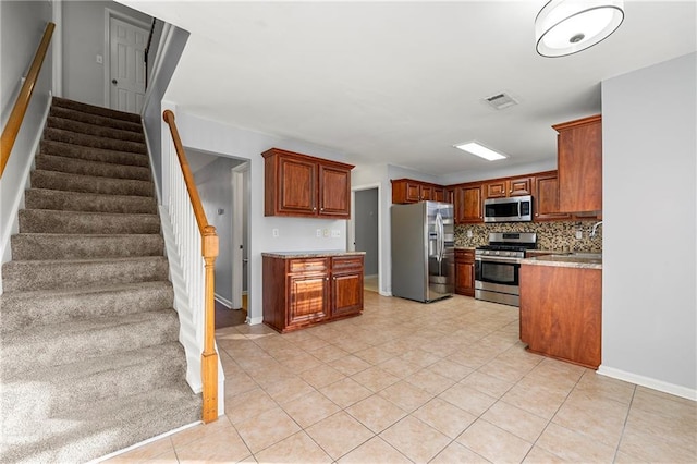
<svg viewBox="0 0 697 464">
<path fill-rule="evenodd" d="M 363 260 L 363 255 L 264 255 L 264 323 L 283 333 L 358 316 Z"/>
</svg>

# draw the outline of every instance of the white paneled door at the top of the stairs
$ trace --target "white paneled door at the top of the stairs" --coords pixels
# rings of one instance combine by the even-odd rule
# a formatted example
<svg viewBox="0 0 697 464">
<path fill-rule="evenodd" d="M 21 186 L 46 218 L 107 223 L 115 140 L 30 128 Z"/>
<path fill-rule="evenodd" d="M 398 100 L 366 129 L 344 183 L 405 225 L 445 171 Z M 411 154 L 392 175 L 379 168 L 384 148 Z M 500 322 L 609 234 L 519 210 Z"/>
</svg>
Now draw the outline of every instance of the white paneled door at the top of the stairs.
<svg viewBox="0 0 697 464">
<path fill-rule="evenodd" d="M 114 110 L 139 113 L 143 108 L 148 34 L 146 28 L 117 17 L 109 21 L 109 107 Z"/>
</svg>

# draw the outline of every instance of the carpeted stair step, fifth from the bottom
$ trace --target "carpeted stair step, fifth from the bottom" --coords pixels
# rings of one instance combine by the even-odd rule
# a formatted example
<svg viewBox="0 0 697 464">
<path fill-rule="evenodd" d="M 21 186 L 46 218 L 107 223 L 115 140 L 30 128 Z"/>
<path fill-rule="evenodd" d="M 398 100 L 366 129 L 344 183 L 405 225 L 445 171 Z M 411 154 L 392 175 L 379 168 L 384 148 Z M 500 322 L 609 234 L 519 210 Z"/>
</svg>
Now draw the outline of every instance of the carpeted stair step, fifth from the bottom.
<svg viewBox="0 0 697 464">
<path fill-rule="evenodd" d="M 2 265 L 5 292 L 152 282 L 167 280 L 168 274 L 169 266 L 163 256 L 10 261 Z"/>
</svg>

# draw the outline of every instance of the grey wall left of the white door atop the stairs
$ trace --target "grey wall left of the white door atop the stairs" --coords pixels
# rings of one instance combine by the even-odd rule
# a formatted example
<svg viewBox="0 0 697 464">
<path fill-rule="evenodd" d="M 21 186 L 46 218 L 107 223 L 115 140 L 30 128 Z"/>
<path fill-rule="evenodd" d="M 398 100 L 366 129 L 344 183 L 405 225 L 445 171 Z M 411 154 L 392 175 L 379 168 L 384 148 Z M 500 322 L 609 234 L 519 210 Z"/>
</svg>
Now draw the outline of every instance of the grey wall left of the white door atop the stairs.
<svg viewBox="0 0 697 464">
<path fill-rule="evenodd" d="M 63 97 L 108 107 L 105 101 L 105 9 L 134 17 L 149 26 L 151 17 L 113 1 L 63 1 Z M 60 33 L 60 32 L 59 32 Z M 3 50 L 4 52 L 4 50 Z M 97 63 L 97 54 L 105 63 Z"/>
</svg>

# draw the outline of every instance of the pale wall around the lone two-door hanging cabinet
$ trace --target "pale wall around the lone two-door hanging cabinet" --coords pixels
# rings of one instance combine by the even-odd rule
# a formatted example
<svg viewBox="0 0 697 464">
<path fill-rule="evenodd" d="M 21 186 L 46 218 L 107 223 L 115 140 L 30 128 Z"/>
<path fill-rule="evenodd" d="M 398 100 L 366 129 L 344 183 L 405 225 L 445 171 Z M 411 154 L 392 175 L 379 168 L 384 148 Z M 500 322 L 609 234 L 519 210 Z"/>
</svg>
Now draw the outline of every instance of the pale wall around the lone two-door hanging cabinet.
<svg viewBox="0 0 697 464">
<path fill-rule="evenodd" d="M 252 323 L 262 320 L 261 253 L 346 249 L 346 221 L 264 216 L 264 158 L 261 152 L 277 147 L 319 158 L 345 162 L 342 154 L 298 141 L 276 138 L 205 120 L 175 109 L 176 125 L 186 147 L 250 161 L 249 187 L 249 268 L 248 317 Z M 163 186 L 167 195 L 167 186 Z M 167 196 L 164 196 L 167 198 Z M 272 236 L 272 230 L 279 236 Z M 339 230 L 339 237 L 317 237 L 317 229 Z"/>
</svg>

